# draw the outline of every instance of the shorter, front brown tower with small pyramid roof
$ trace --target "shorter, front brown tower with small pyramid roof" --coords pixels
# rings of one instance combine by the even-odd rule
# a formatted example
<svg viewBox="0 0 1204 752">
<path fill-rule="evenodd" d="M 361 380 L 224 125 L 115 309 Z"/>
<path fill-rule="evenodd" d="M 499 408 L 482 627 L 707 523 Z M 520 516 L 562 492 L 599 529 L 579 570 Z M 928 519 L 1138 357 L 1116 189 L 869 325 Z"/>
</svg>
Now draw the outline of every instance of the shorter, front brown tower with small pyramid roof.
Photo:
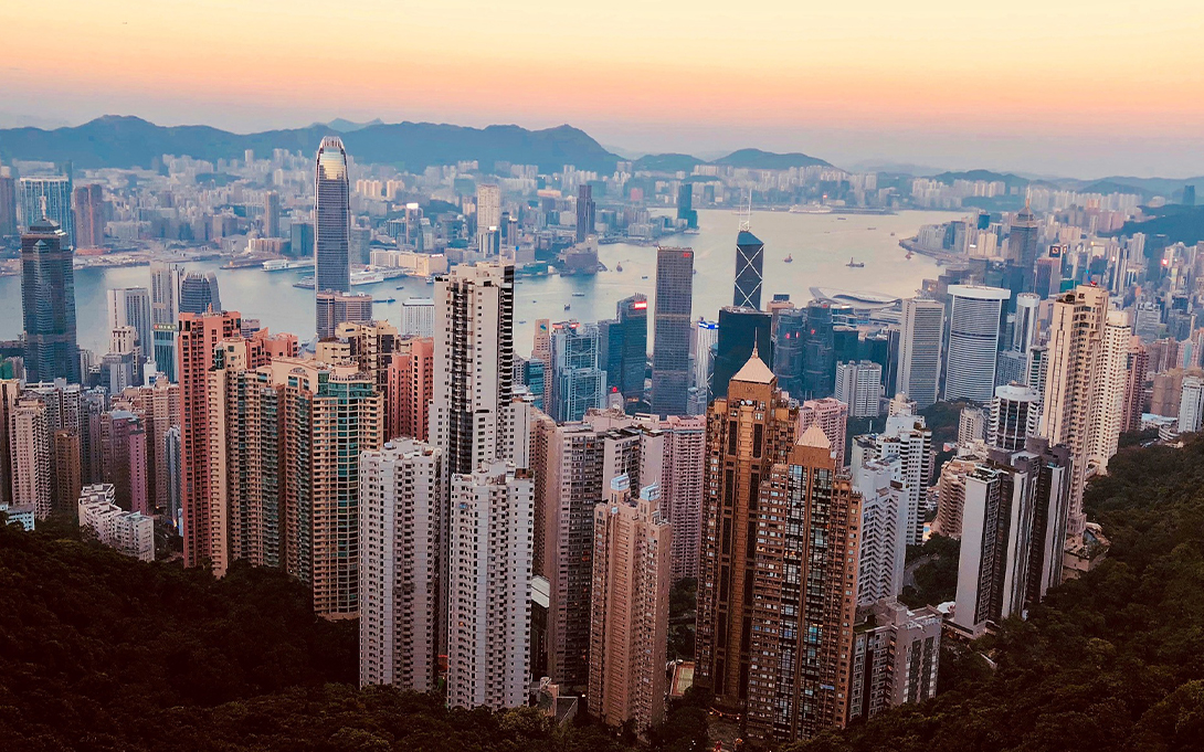
<svg viewBox="0 0 1204 752">
<path fill-rule="evenodd" d="M 843 728 L 861 496 L 837 474 L 819 426 L 799 437 L 786 462 L 773 464 L 751 516 L 757 541 L 751 629 L 732 624 L 742 639 L 750 635 L 749 734 L 792 741 Z"/>
</svg>

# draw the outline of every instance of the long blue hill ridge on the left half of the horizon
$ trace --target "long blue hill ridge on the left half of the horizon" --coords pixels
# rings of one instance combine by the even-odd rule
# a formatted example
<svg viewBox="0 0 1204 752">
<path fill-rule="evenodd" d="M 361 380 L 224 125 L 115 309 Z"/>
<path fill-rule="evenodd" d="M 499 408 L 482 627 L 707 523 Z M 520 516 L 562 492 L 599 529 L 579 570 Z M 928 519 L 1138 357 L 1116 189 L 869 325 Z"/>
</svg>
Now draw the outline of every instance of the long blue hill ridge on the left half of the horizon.
<svg viewBox="0 0 1204 752">
<path fill-rule="evenodd" d="M 338 123 L 338 122 L 335 122 Z M 207 125 L 163 126 L 141 118 L 105 116 L 77 128 L 0 130 L 5 159 L 66 161 L 84 168 L 149 167 L 163 154 L 196 159 L 241 158 L 244 149 L 270 154 L 282 148 L 309 153 L 323 136 L 340 134 L 352 155 L 365 162 L 403 165 L 421 171 L 431 165 L 477 160 L 485 170 L 496 161 L 535 164 L 541 170 L 576 165 L 609 172 L 616 156 L 584 131 L 568 125 L 527 130 L 517 125 L 465 128 L 436 123 L 350 124 L 341 132 L 329 125 L 231 134 Z"/>
</svg>

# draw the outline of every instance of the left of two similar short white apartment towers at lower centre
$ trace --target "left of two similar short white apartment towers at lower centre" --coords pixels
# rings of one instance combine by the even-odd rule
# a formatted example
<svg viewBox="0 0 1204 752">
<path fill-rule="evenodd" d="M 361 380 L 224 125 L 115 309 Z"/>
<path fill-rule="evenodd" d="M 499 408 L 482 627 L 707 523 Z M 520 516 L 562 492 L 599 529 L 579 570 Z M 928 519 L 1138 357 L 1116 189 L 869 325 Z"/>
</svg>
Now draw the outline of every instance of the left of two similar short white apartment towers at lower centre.
<svg viewBox="0 0 1204 752">
<path fill-rule="evenodd" d="M 438 448 L 414 439 L 360 456 L 360 686 L 435 688 L 442 466 Z"/>
</svg>

